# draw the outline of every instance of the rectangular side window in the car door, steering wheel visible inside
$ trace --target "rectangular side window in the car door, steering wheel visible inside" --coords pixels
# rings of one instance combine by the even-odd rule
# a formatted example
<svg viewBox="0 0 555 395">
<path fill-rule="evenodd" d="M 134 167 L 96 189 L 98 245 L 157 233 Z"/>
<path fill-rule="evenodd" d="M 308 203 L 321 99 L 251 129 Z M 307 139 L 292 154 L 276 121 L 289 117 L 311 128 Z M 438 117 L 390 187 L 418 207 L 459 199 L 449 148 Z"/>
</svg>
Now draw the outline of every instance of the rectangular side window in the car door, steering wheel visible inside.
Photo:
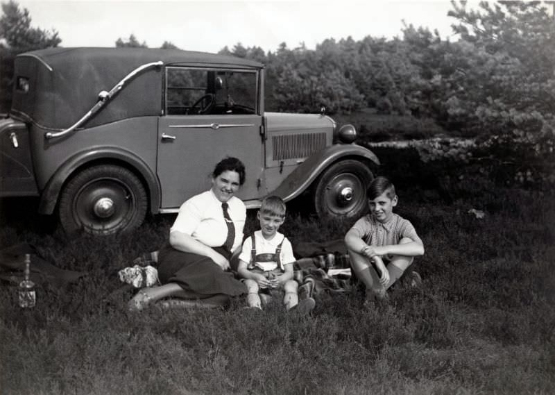
<svg viewBox="0 0 555 395">
<path fill-rule="evenodd" d="M 244 115 L 257 112 L 257 73 L 167 67 L 167 115 Z"/>
</svg>

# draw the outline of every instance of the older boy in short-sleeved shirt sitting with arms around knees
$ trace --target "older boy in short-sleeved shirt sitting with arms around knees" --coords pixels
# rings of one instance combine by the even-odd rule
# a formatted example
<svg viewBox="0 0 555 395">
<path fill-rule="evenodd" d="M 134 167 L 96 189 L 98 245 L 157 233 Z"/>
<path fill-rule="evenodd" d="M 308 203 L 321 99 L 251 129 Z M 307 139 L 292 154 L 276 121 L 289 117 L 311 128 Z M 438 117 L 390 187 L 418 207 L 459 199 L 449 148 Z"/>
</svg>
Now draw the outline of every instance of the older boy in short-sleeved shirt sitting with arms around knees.
<svg viewBox="0 0 555 395">
<path fill-rule="evenodd" d="M 387 178 L 375 178 L 367 196 L 370 213 L 350 228 L 345 244 L 355 276 L 366 285 L 366 300 L 373 301 L 385 297 L 413 257 L 424 254 L 424 246 L 412 224 L 393 214 L 398 196 Z M 416 271 L 413 277 L 420 279 Z"/>
</svg>

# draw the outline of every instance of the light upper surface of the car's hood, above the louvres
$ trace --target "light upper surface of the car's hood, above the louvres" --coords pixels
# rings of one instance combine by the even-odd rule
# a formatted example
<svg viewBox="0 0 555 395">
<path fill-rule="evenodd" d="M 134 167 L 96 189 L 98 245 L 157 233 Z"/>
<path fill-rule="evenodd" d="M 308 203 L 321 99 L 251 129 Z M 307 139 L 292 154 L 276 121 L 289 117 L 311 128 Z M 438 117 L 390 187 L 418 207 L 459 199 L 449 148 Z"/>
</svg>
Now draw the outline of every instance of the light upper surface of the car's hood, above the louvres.
<svg viewBox="0 0 555 395">
<path fill-rule="evenodd" d="M 288 114 L 286 112 L 266 112 L 266 128 L 268 133 L 280 131 L 304 131 L 307 129 L 323 129 L 333 131 L 335 121 L 321 114 Z"/>
</svg>

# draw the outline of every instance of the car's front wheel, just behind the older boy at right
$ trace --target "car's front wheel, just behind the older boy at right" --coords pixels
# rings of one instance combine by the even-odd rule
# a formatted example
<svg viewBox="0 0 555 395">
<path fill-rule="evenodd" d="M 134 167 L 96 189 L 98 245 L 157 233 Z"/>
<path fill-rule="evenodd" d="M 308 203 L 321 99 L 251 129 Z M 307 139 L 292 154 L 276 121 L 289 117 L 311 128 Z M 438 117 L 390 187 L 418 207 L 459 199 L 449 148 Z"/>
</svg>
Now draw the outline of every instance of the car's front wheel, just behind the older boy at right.
<svg viewBox="0 0 555 395">
<path fill-rule="evenodd" d="M 342 160 L 318 178 L 314 205 L 320 217 L 361 217 L 368 210 L 366 188 L 374 176 L 358 160 Z"/>
</svg>

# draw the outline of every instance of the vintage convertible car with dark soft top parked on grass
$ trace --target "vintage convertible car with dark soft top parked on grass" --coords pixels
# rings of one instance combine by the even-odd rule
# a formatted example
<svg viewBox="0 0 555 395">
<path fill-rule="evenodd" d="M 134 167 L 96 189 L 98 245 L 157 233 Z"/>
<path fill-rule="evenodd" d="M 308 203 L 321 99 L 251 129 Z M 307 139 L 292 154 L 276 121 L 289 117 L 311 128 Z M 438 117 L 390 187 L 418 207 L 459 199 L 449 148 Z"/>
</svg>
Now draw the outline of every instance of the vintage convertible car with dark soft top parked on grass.
<svg viewBox="0 0 555 395">
<path fill-rule="evenodd" d="M 246 165 L 247 208 L 310 194 L 318 215 L 361 215 L 379 164 L 322 113 L 264 111 L 264 65 L 139 48 L 51 48 L 15 58 L 0 119 L 0 196 L 40 196 L 65 230 L 109 235 L 177 212 L 225 156 Z"/>
</svg>

